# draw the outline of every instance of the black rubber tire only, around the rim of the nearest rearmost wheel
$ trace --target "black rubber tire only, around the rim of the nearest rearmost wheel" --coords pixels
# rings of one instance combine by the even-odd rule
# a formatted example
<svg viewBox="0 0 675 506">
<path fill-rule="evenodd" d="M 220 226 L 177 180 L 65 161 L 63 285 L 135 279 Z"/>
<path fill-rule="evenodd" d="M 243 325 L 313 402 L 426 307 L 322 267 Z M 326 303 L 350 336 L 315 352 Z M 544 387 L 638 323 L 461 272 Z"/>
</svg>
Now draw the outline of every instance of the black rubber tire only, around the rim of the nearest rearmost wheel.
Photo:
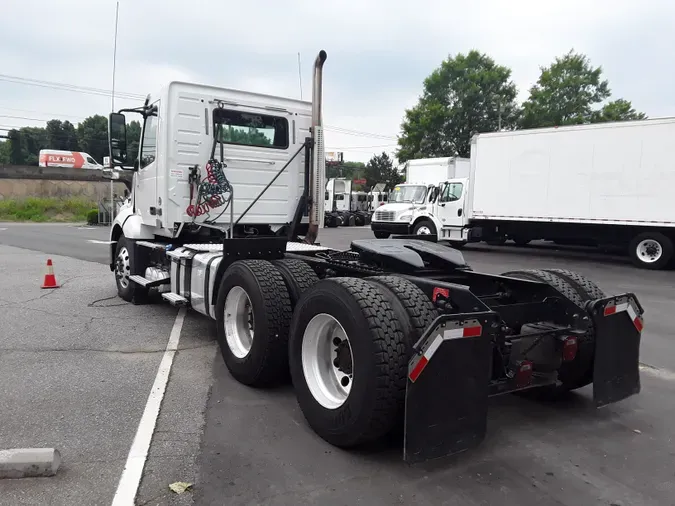
<svg viewBox="0 0 675 506">
<path fill-rule="evenodd" d="M 317 315 L 328 314 L 350 338 L 353 382 L 343 404 L 324 407 L 312 395 L 303 371 L 304 331 Z M 372 283 L 332 278 L 303 294 L 293 314 L 289 342 L 291 377 L 298 404 L 312 429 L 339 447 L 352 447 L 387 434 L 405 401 L 405 338 L 391 304 Z"/>
</svg>

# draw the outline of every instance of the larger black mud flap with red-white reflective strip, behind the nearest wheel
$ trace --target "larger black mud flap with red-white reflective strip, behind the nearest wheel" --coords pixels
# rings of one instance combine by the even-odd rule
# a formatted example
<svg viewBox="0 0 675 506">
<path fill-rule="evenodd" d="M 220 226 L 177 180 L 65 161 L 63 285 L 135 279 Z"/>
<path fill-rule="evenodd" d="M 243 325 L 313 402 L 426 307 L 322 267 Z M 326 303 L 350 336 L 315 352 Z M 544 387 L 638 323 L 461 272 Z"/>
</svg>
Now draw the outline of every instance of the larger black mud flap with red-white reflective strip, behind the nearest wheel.
<svg viewBox="0 0 675 506">
<path fill-rule="evenodd" d="M 403 458 L 418 463 L 477 446 L 487 428 L 493 312 L 438 317 L 408 363 Z"/>
</svg>

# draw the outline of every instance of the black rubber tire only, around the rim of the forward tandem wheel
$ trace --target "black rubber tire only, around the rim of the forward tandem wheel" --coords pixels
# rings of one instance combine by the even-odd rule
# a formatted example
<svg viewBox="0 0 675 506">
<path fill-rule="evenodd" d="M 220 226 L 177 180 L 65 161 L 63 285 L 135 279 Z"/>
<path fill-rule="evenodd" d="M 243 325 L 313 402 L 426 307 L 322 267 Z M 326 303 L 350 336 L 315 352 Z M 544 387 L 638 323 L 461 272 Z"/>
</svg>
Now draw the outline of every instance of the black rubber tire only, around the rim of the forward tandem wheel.
<svg viewBox="0 0 675 506">
<path fill-rule="evenodd" d="M 245 356 L 237 357 L 227 342 L 225 301 L 241 287 L 253 310 L 254 337 Z M 287 378 L 291 300 L 281 273 L 266 260 L 240 260 L 230 265 L 218 290 L 217 338 L 230 374 L 245 385 L 267 386 Z"/>
</svg>

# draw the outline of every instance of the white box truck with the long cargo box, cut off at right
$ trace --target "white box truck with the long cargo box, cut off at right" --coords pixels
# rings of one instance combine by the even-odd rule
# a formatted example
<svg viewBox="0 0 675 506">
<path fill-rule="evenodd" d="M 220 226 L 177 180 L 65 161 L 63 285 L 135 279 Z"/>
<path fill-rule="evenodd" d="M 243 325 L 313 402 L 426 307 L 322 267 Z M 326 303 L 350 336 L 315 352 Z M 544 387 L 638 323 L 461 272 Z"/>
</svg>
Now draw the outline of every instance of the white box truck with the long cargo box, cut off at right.
<svg viewBox="0 0 675 506">
<path fill-rule="evenodd" d="M 675 241 L 675 118 L 479 134 L 468 178 L 416 213 L 415 233 L 466 242 L 619 246 L 665 267 Z"/>
</svg>

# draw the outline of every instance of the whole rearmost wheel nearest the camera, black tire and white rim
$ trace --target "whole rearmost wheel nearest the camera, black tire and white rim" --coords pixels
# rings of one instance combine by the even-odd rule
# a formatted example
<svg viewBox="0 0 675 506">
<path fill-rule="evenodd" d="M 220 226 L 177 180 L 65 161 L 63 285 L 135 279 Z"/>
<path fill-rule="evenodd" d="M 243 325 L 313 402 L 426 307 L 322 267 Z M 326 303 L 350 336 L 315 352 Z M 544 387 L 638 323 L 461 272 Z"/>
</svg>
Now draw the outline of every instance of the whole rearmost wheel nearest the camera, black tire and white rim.
<svg viewBox="0 0 675 506">
<path fill-rule="evenodd" d="M 405 349 L 396 313 L 373 284 L 333 278 L 305 292 L 293 314 L 289 361 L 312 429 L 341 447 L 387 434 L 405 399 Z"/>
</svg>

